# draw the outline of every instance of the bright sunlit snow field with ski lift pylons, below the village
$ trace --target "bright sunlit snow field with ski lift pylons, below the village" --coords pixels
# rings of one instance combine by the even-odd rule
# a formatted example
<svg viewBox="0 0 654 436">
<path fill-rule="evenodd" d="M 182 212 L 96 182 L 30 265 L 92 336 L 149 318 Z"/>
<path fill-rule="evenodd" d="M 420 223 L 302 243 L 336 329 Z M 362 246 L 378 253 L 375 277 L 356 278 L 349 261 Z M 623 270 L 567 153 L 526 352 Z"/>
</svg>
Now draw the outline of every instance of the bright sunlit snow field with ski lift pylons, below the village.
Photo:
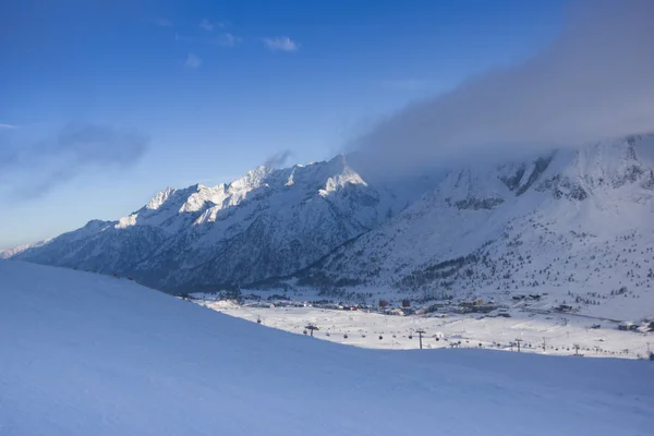
<svg viewBox="0 0 654 436">
<path fill-rule="evenodd" d="M 573 314 L 542 315 L 513 310 L 510 318 L 481 314 L 392 316 L 311 306 L 263 308 L 227 301 L 198 303 L 294 334 L 304 334 L 305 326 L 311 323 L 319 328 L 314 331 L 316 338 L 374 349 L 416 349 L 420 341 L 415 331 L 422 329 L 425 349 L 457 347 L 518 351 L 520 343 L 523 352 L 628 359 L 646 359 L 649 351 L 654 350 L 652 332 L 620 331 L 617 323 Z M 600 324 L 598 329 L 590 328 L 595 324 Z"/>
</svg>

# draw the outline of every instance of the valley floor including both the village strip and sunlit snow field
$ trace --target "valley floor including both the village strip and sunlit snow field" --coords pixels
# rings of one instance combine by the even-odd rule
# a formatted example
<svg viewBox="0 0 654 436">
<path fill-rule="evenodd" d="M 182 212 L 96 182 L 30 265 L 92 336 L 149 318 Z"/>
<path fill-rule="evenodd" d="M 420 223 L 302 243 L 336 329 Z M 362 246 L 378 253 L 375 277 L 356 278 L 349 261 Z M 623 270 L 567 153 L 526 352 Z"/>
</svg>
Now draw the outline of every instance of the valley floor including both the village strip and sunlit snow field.
<svg viewBox="0 0 654 436">
<path fill-rule="evenodd" d="M 592 316 L 558 300 L 553 304 L 547 293 L 513 294 L 498 302 L 434 292 L 373 304 L 320 299 L 311 291 L 292 298 L 262 291 L 183 298 L 266 327 L 363 348 L 477 348 L 654 360 L 654 319 Z"/>
</svg>

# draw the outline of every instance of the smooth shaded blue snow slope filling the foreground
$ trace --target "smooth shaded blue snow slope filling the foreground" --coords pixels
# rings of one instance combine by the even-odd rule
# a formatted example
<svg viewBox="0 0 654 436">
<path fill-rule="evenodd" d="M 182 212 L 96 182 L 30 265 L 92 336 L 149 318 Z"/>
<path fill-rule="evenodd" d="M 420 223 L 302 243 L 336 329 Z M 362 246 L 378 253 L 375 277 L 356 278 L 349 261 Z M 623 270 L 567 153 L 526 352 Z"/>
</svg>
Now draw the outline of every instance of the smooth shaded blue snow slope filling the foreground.
<svg viewBox="0 0 654 436">
<path fill-rule="evenodd" d="M 0 262 L 0 435 L 651 435 L 654 364 L 366 350 Z"/>
</svg>

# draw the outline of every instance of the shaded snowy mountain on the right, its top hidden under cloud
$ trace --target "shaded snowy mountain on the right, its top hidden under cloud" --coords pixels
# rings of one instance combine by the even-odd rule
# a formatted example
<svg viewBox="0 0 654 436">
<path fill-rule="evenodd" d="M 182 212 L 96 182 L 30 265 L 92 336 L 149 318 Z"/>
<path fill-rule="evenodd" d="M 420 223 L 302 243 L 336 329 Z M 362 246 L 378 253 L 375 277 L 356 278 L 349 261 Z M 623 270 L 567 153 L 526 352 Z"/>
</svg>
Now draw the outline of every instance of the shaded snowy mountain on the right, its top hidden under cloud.
<svg viewBox="0 0 654 436">
<path fill-rule="evenodd" d="M 654 137 L 450 171 L 389 222 L 300 276 L 456 296 L 547 292 L 610 316 L 654 315 Z M 619 295 L 619 296 L 618 296 Z"/>
</svg>

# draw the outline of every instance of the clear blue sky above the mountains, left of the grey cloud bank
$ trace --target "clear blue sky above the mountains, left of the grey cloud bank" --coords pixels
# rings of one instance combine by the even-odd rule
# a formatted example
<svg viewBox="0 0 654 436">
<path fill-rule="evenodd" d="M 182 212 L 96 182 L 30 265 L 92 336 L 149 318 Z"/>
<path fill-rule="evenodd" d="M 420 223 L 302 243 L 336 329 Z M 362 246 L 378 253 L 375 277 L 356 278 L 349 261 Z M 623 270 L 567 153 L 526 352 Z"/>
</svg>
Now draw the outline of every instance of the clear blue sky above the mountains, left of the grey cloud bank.
<svg viewBox="0 0 654 436">
<path fill-rule="evenodd" d="M 92 3 L 0 5 L 0 249 L 117 219 L 167 185 L 229 181 L 280 152 L 329 158 L 379 117 L 535 55 L 567 5 Z"/>
</svg>

